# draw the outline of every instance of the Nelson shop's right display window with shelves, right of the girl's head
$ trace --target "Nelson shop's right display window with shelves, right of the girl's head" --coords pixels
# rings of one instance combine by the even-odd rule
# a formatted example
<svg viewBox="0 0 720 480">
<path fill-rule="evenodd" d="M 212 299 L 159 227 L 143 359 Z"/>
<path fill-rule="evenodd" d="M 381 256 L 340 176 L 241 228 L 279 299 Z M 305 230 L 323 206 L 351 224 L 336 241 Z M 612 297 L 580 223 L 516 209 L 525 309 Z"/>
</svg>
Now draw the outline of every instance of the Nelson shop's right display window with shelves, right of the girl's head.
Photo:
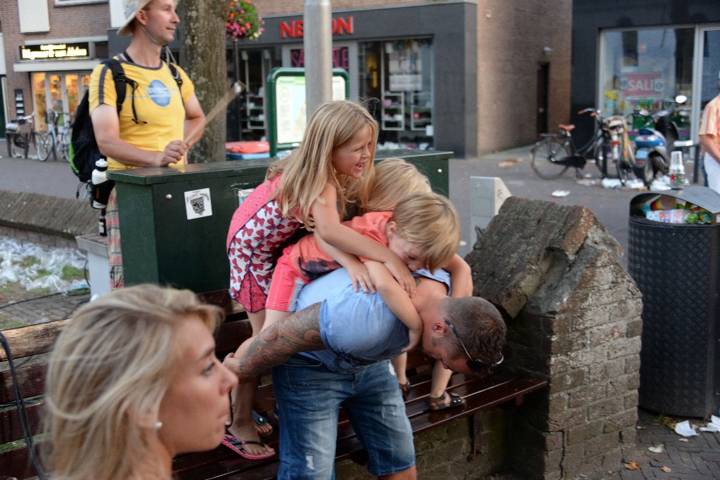
<svg viewBox="0 0 720 480">
<path fill-rule="evenodd" d="M 378 148 L 433 148 L 430 39 L 361 43 L 359 94 L 380 124 Z"/>
</svg>

